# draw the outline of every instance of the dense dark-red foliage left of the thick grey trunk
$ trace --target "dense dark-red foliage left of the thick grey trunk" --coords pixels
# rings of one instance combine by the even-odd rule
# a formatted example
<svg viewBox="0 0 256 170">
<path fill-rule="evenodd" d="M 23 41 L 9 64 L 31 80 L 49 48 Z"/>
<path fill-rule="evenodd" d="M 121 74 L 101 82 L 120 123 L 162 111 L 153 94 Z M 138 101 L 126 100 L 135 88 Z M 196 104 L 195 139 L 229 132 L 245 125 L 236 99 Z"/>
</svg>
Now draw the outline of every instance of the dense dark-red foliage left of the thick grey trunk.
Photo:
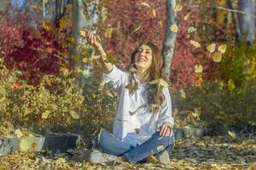
<svg viewBox="0 0 256 170">
<path fill-rule="evenodd" d="M 5 14 L 0 20 L 0 54 L 9 69 L 15 66 L 22 78 L 37 85 L 44 74 L 59 74 L 67 64 L 70 31 L 52 24 L 50 30 L 30 26 L 26 13 Z"/>
</svg>

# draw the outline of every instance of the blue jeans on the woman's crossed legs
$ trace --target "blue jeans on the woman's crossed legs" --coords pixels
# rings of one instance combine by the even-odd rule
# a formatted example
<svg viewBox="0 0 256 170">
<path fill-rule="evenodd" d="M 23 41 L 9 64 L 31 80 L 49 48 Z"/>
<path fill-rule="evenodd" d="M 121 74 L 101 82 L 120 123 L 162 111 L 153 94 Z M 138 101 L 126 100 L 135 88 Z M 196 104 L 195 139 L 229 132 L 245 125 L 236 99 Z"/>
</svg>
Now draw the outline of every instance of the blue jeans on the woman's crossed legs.
<svg viewBox="0 0 256 170">
<path fill-rule="evenodd" d="M 174 135 L 161 137 L 159 132 L 137 147 L 125 144 L 112 133 L 103 132 L 97 142 L 97 147 L 104 153 L 114 156 L 125 156 L 130 163 L 143 161 L 150 155 L 160 156 L 165 150 L 170 150 L 174 142 Z M 160 150 L 161 149 L 161 150 Z"/>
</svg>

